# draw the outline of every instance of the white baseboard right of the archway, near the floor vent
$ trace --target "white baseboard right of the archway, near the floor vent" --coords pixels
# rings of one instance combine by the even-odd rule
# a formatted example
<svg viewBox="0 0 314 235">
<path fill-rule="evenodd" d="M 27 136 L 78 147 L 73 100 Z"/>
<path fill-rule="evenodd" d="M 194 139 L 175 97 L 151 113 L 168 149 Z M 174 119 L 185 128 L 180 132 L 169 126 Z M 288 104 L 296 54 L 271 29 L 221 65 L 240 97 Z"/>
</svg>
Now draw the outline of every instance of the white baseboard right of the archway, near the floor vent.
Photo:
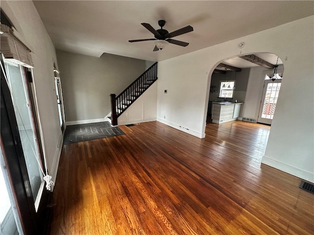
<svg viewBox="0 0 314 235">
<path fill-rule="evenodd" d="M 286 173 L 289 173 L 291 175 L 299 177 L 303 180 L 307 180 L 309 182 L 314 183 L 314 173 L 313 172 L 308 172 L 306 170 L 294 167 L 292 165 L 288 165 L 286 163 L 279 162 L 277 160 L 268 158 L 266 156 L 263 156 L 262 164 L 269 165 L 271 167 L 274 167 L 276 169 L 282 170 Z"/>
</svg>

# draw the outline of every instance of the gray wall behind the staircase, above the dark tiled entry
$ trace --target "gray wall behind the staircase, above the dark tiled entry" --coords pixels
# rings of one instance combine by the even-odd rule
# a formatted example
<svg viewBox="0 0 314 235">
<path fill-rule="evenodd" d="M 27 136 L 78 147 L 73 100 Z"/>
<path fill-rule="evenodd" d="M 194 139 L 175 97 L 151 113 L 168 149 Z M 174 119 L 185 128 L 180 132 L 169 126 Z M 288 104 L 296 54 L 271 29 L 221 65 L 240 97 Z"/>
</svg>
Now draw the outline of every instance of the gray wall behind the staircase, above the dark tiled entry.
<svg viewBox="0 0 314 235">
<path fill-rule="evenodd" d="M 56 50 L 66 121 L 104 118 L 109 94 L 120 94 L 145 71 L 145 60 L 104 53 L 100 58 Z"/>
</svg>

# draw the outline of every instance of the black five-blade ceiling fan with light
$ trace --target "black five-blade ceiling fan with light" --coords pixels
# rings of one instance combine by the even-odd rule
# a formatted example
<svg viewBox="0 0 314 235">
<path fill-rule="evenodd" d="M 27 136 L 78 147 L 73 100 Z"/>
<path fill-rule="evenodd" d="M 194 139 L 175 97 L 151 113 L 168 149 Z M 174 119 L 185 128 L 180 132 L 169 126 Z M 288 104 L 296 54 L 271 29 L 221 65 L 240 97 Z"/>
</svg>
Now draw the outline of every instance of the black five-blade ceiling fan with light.
<svg viewBox="0 0 314 235">
<path fill-rule="evenodd" d="M 152 25 L 150 25 L 148 23 L 141 23 L 141 24 L 145 28 L 147 28 L 150 32 L 152 32 L 154 34 L 155 38 L 129 40 L 129 42 L 134 43 L 134 42 L 142 42 L 142 41 L 156 41 L 155 42 L 156 46 L 154 47 L 153 51 L 157 51 L 159 49 L 162 50 L 162 48 L 164 48 L 168 43 L 172 43 L 172 44 L 175 44 L 178 46 L 186 47 L 188 45 L 188 43 L 174 40 L 171 38 L 193 31 L 193 27 L 191 25 L 187 25 L 183 28 L 180 28 L 176 31 L 169 33 L 166 29 L 162 28 L 166 24 L 166 22 L 164 20 L 158 21 L 158 25 L 160 26 L 160 29 L 157 29 L 157 30 L 154 29 L 152 27 Z"/>
</svg>

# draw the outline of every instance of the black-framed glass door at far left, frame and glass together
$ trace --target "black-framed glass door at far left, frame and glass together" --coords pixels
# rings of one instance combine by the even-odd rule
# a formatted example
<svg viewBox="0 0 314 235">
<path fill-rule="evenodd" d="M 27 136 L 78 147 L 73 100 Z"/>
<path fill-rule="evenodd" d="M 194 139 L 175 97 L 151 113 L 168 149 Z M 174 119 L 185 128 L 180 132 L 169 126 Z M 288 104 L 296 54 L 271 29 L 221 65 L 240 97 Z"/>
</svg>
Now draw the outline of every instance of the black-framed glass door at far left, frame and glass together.
<svg viewBox="0 0 314 235">
<path fill-rule="evenodd" d="M 1 152 L 25 235 L 43 234 L 50 193 L 41 169 L 26 70 L 1 59 Z"/>
</svg>

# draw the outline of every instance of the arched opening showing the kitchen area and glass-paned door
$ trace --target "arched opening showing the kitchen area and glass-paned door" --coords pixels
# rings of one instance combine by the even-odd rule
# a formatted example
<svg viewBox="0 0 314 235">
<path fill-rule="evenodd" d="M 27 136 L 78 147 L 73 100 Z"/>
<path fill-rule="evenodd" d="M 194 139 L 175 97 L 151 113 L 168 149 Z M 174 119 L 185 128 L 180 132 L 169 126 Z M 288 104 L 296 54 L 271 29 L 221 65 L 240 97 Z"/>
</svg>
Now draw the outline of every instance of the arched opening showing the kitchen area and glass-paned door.
<svg viewBox="0 0 314 235">
<path fill-rule="evenodd" d="M 211 128 L 223 127 L 232 133 L 232 128 L 256 125 L 257 133 L 262 133 L 262 160 L 280 95 L 282 60 L 266 52 L 237 55 L 218 62 L 211 71 L 206 134 Z"/>
</svg>

